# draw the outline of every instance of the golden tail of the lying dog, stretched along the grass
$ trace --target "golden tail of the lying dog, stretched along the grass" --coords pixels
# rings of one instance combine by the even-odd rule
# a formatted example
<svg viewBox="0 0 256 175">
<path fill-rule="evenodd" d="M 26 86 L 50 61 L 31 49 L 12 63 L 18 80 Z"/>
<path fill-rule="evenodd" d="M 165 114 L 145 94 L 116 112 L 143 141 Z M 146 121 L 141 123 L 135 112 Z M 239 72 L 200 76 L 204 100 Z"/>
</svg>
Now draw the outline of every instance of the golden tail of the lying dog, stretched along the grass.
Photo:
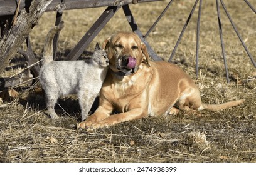
<svg viewBox="0 0 256 175">
<path fill-rule="evenodd" d="M 233 106 L 237 106 L 238 104 L 243 103 L 243 101 L 245 101 L 245 99 L 240 99 L 240 100 L 236 100 L 236 101 L 229 101 L 227 103 L 223 103 L 223 104 L 206 104 L 206 103 L 202 103 L 200 108 L 198 108 L 198 110 L 203 110 L 206 109 L 208 111 L 220 111 L 222 109 L 227 109 Z"/>
</svg>

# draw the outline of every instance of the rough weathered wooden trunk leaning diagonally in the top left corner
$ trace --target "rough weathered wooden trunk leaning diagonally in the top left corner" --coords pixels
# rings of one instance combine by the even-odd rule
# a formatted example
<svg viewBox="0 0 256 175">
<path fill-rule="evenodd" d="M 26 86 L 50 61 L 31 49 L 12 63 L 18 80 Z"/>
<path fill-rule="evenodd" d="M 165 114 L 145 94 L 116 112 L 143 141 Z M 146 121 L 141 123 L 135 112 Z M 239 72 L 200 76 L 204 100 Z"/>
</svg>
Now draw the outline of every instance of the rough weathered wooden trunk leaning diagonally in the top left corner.
<svg viewBox="0 0 256 175">
<path fill-rule="evenodd" d="M 0 40 L 0 74 L 4 71 L 4 68 L 8 66 L 9 60 L 17 53 L 18 48 L 26 37 L 28 37 L 29 32 L 38 24 L 38 19 L 40 19 L 43 12 L 45 12 L 52 1 L 53 0 L 33 0 L 30 6 L 26 8 L 21 7 L 22 10 L 17 17 L 16 25 L 11 26 Z M 1 1 L 1 3 L 2 2 L 4 1 Z"/>
</svg>

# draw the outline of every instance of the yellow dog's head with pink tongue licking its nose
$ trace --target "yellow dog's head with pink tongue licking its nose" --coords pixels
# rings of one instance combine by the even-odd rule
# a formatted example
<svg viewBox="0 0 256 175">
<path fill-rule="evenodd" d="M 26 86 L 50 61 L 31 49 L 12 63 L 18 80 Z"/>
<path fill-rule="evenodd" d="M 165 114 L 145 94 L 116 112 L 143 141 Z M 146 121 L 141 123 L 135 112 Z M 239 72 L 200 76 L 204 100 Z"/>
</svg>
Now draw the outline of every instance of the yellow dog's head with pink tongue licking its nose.
<svg viewBox="0 0 256 175">
<path fill-rule="evenodd" d="M 132 32 L 118 32 L 105 40 L 103 48 L 109 58 L 109 67 L 115 73 L 133 74 L 139 65 L 149 64 L 145 44 Z"/>
</svg>

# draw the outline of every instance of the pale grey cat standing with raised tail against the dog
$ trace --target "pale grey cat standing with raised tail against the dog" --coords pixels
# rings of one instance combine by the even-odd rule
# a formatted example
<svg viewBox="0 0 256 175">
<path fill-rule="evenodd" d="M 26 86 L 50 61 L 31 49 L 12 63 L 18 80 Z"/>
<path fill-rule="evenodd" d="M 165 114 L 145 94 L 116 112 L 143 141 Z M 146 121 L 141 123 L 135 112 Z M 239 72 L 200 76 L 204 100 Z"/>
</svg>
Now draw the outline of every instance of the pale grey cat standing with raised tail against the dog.
<svg viewBox="0 0 256 175">
<path fill-rule="evenodd" d="M 105 50 L 97 44 L 92 58 L 88 61 L 53 61 L 53 37 L 63 27 L 64 22 L 61 22 L 48 32 L 43 51 L 43 66 L 40 70 L 40 83 L 45 90 L 48 114 L 51 118 L 58 118 L 54 107 L 60 96 L 77 94 L 83 121 L 100 92 L 107 74 L 109 59 Z"/>
</svg>

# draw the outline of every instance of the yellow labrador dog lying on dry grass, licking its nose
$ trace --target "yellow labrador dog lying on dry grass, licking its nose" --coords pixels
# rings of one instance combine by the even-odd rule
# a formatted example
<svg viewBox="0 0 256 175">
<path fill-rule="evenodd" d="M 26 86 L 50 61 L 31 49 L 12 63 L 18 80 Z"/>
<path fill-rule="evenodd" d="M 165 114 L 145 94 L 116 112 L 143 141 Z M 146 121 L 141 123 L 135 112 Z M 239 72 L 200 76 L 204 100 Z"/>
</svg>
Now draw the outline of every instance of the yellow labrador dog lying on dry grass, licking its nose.
<svg viewBox="0 0 256 175">
<path fill-rule="evenodd" d="M 244 100 L 211 105 L 201 102 L 194 81 L 178 66 L 149 61 L 141 39 L 132 32 L 118 32 L 104 42 L 109 72 L 100 91 L 99 107 L 80 128 L 102 128 L 144 116 L 174 114 L 178 109 L 219 111 Z M 119 114 L 112 114 L 118 110 Z"/>
</svg>

